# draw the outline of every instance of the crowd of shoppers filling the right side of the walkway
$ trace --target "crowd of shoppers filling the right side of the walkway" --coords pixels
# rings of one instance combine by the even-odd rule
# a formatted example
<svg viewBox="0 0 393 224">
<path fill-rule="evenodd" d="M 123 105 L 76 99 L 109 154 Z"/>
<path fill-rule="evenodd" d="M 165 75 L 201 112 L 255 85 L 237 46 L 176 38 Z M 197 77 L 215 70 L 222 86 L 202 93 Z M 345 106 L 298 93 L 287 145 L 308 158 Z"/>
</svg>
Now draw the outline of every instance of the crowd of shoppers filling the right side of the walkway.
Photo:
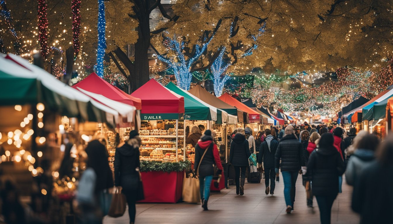
<svg viewBox="0 0 393 224">
<path fill-rule="evenodd" d="M 281 169 L 286 213 L 294 210 L 296 180 L 301 174 L 307 206 L 313 207 L 315 196 L 321 223 L 331 223 L 331 208 L 337 195 L 342 193 L 342 175 L 345 174 L 346 183 L 354 189 L 352 209 L 360 214 L 361 223 L 392 222 L 393 180 L 389 178 L 393 177 L 392 135 L 381 144 L 376 135 L 366 131 L 356 135 L 354 127 L 345 133 L 339 126 L 307 123 L 260 131 L 255 136 L 255 144 L 249 142 L 242 128 L 233 134 L 229 162 L 235 167 L 237 194 L 244 194 L 247 158 L 256 144 L 259 166 L 263 164 L 266 195 L 274 194 L 274 177 Z"/>
</svg>

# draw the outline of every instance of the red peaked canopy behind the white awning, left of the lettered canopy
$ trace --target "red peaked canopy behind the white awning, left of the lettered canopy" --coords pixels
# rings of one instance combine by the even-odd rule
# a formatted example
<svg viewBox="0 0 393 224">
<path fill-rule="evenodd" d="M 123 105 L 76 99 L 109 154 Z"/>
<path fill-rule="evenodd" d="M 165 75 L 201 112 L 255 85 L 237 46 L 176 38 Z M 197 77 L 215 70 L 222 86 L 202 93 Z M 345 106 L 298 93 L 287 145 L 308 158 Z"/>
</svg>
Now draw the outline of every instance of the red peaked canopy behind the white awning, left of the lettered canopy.
<svg viewBox="0 0 393 224">
<path fill-rule="evenodd" d="M 127 93 L 121 91 L 115 86 L 112 86 L 107 81 L 103 80 L 100 76 L 95 74 L 94 72 L 84 78 L 81 82 L 72 86 L 76 89 L 79 87 L 86 91 L 103 95 L 108 99 L 115 100 L 124 104 L 129 104 L 131 106 L 136 107 L 136 109 L 142 109 L 141 99 L 132 97 Z"/>
</svg>

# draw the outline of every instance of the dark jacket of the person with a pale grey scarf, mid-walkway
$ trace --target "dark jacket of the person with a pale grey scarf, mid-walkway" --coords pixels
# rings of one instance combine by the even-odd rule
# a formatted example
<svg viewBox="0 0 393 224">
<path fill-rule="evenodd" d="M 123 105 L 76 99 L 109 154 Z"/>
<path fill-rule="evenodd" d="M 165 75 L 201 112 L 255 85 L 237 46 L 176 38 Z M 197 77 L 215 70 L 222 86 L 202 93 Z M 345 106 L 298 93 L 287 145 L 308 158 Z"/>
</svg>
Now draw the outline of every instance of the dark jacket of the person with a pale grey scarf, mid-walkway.
<svg viewBox="0 0 393 224">
<path fill-rule="evenodd" d="M 262 163 L 263 161 L 263 167 L 265 169 L 274 168 L 274 155 L 277 151 L 277 147 L 277 139 L 272 135 L 266 136 L 264 142 L 262 142 L 261 148 L 259 149 L 258 163 Z"/>
</svg>

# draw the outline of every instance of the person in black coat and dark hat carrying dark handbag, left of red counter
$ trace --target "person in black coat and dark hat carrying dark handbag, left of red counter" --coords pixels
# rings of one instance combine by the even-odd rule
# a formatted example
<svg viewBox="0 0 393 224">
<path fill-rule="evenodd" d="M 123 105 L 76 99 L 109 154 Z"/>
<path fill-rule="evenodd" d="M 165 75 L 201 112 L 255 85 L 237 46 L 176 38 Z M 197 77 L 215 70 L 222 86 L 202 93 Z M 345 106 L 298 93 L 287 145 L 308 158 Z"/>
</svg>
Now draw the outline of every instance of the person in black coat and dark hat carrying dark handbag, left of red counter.
<svg viewBox="0 0 393 224">
<path fill-rule="evenodd" d="M 138 189 L 138 179 L 140 160 L 139 147 L 141 145 L 141 138 L 138 131 L 130 131 L 129 140 L 117 148 L 115 151 L 115 186 L 122 188 L 122 193 L 125 195 L 128 204 L 128 213 L 130 216 L 130 223 L 135 222 L 136 215 L 136 189 Z"/>
</svg>

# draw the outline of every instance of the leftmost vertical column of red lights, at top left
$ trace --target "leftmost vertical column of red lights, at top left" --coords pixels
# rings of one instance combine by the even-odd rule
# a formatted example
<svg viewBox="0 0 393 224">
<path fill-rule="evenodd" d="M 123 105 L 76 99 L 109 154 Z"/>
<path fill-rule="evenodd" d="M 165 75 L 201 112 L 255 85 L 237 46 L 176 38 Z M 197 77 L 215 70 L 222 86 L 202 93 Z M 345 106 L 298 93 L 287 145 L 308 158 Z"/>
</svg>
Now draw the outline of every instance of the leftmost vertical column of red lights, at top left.
<svg viewBox="0 0 393 224">
<path fill-rule="evenodd" d="M 38 0 L 38 40 L 41 54 L 44 58 L 48 55 L 48 18 L 46 17 L 46 0 Z"/>
</svg>

